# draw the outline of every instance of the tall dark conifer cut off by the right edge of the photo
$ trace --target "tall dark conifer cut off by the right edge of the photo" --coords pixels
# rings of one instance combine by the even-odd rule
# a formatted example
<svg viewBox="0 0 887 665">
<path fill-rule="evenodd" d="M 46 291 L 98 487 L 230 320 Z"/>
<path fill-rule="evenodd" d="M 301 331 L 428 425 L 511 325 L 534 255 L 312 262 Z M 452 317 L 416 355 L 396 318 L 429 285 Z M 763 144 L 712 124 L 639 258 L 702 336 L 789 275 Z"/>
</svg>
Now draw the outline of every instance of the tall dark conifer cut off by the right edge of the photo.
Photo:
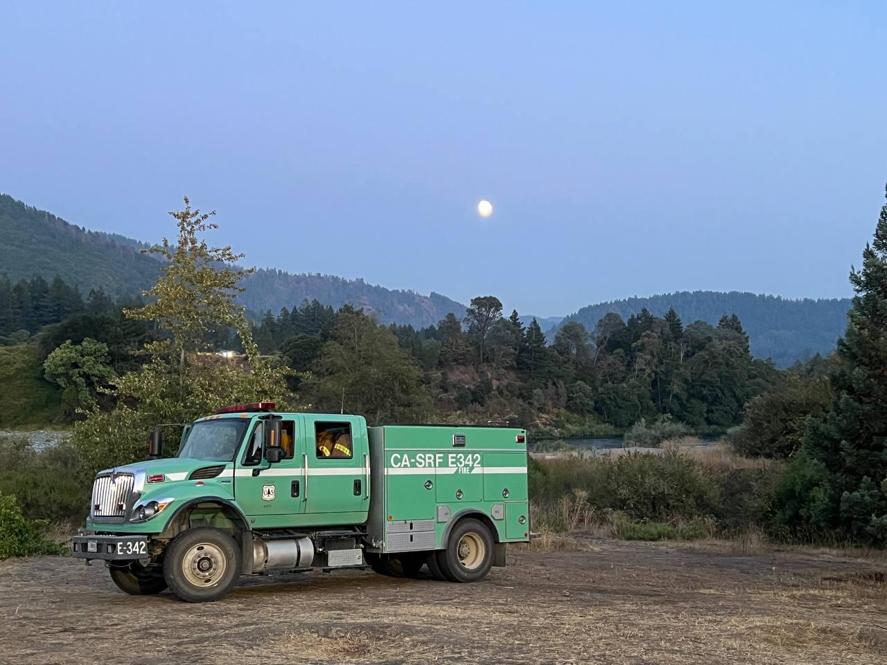
<svg viewBox="0 0 887 665">
<path fill-rule="evenodd" d="M 805 434 L 804 455 L 781 495 L 783 513 L 846 536 L 887 543 L 887 205 L 851 270 L 856 295 L 830 375 L 834 399 Z M 798 480 L 807 479 L 806 485 Z M 792 485 L 792 483 L 794 483 Z M 789 511 L 790 512 L 790 511 Z M 791 516 L 791 515 L 789 515 Z"/>
</svg>

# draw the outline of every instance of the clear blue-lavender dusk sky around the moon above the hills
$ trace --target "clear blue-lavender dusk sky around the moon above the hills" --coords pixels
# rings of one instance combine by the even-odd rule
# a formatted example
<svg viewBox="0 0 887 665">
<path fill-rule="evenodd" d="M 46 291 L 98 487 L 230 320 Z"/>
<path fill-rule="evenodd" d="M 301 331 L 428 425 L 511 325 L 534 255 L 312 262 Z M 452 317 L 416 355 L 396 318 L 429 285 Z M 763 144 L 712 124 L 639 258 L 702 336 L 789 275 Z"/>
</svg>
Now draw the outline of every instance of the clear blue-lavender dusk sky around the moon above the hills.
<svg viewBox="0 0 887 665">
<path fill-rule="evenodd" d="M 537 316 L 844 297 L 883 205 L 883 2 L 6 2 L 0 25 L 0 192 L 149 241 L 187 195 L 249 265 Z"/>
</svg>

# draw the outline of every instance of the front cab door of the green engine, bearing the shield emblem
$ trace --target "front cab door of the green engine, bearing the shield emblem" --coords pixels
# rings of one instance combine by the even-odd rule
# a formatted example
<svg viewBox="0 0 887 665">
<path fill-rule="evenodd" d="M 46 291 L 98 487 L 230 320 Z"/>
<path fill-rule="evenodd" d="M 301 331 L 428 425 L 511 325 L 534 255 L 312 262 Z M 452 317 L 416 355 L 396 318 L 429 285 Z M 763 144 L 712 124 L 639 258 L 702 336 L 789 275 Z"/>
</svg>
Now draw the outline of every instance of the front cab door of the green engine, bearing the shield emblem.
<svg viewBox="0 0 887 665">
<path fill-rule="evenodd" d="M 280 443 L 284 456 L 271 465 L 264 458 L 264 421 L 256 419 L 247 434 L 247 442 L 235 460 L 234 492 L 237 503 L 255 518 L 255 527 L 287 526 L 287 515 L 304 509 L 304 469 L 298 454 L 297 420 L 284 416 L 280 421 Z"/>
</svg>

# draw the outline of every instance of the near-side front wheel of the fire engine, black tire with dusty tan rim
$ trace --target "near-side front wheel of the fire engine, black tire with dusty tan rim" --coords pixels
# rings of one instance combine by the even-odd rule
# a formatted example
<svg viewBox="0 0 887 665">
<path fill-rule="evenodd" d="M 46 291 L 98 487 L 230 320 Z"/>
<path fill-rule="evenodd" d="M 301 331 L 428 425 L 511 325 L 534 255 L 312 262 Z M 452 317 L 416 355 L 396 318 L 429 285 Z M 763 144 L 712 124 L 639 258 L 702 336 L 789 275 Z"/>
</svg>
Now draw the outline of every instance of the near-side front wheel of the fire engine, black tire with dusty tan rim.
<svg viewBox="0 0 887 665">
<path fill-rule="evenodd" d="M 189 603 L 223 599 L 237 583 L 240 567 L 239 545 L 213 527 L 184 531 L 163 556 L 163 577 L 169 589 Z"/>
</svg>

